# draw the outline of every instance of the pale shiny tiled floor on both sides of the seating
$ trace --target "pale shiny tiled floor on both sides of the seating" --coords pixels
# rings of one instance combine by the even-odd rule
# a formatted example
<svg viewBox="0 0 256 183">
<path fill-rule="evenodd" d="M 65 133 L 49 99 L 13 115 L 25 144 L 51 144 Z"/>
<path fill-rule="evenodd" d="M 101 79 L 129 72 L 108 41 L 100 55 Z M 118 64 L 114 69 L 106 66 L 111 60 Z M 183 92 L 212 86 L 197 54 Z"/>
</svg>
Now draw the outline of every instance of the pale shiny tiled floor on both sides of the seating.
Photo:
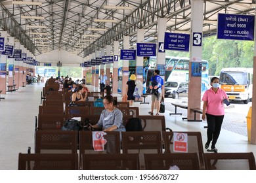
<svg viewBox="0 0 256 183">
<path fill-rule="evenodd" d="M 40 105 L 42 83 L 35 83 L 7 93 L 0 101 L 0 169 L 18 169 L 18 153 L 26 153 L 28 147 L 34 148 L 35 116 Z M 91 91 L 94 90 L 90 88 Z M 118 95 L 121 99 L 120 95 Z M 146 97 L 150 101 L 150 97 Z M 140 114 L 147 115 L 150 105 L 134 103 L 140 107 Z M 166 126 L 173 131 L 201 131 L 203 143 L 206 140 L 206 129 L 202 122 L 182 121 L 182 116 L 169 116 L 165 110 Z M 160 114 L 163 115 L 163 114 Z M 216 147 L 219 152 L 253 152 L 256 157 L 256 145 L 249 144 L 247 137 L 222 129 Z"/>
</svg>

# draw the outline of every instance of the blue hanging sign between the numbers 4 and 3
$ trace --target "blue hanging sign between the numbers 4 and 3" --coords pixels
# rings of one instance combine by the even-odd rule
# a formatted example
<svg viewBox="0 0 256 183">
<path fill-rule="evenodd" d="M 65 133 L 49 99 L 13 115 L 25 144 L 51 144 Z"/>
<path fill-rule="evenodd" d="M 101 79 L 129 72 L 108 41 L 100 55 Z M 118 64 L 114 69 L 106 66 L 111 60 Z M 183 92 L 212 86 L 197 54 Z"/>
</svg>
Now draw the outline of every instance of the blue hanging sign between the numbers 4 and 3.
<svg viewBox="0 0 256 183">
<path fill-rule="evenodd" d="M 189 52 L 189 40 L 189 34 L 165 33 L 164 49 Z"/>
</svg>

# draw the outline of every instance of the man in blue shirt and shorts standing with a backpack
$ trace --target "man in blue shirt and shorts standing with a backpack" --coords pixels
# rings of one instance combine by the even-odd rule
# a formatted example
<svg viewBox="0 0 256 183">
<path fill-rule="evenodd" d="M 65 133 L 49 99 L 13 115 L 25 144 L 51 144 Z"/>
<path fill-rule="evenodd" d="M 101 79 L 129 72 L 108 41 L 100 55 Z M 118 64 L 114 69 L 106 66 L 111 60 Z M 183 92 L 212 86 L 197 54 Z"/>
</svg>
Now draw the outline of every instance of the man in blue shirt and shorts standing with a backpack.
<svg viewBox="0 0 256 183">
<path fill-rule="evenodd" d="M 154 71 L 154 76 L 150 79 L 150 84 L 149 88 L 152 90 L 151 92 L 151 98 L 152 98 L 152 103 L 151 103 L 151 111 L 148 112 L 150 115 L 154 115 L 154 108 L 156 107 L 156 116 L 159 116 L 158 112 L 160 109 L 160 101 L 162 98 L 161 93 L 163 93 L 164 90 L 164 83 L 163 83 L 163 78 L 159 75 L 160 71 L 155 70 Z"/>
</svg>

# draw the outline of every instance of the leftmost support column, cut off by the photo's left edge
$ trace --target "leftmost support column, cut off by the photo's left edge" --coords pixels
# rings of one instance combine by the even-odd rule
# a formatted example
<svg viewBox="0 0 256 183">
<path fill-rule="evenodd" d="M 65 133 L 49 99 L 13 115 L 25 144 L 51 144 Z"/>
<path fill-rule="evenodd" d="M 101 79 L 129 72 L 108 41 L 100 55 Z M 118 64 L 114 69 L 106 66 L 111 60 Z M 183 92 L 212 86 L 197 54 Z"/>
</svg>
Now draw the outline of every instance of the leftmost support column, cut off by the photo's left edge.
<svg viewBox="0 0 256 183">
<path fill-rule="evenodd" d="M 7 31 L 1 31 L 0 37 L 5 38 L 5 44 L 7 43 Z M 0 55 L 0 90 L 2 90 L 1 94 L 6 93 L 6 82 L 7 82 L 7 56 Z"/>
</svg>

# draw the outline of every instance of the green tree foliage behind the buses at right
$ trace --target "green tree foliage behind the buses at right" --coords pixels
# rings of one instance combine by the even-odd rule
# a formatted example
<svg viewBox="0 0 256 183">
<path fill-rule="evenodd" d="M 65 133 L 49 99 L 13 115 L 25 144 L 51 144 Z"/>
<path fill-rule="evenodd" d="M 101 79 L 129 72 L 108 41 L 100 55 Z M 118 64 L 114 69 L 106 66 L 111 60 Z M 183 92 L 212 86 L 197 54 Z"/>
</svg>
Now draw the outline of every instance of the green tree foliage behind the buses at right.
<svg viewBox="0 0 256 183">
<path fill-rule="evenodd" d="M 234 41 L 205 37 L 202 44 L 202 59 L 209 63 L 209 75 L 219 75 L 226 67 L 253 67 L 253 41 Z M 188 52 L 167 50 L 166 55 L 189 57 Z"/>
</svg>

